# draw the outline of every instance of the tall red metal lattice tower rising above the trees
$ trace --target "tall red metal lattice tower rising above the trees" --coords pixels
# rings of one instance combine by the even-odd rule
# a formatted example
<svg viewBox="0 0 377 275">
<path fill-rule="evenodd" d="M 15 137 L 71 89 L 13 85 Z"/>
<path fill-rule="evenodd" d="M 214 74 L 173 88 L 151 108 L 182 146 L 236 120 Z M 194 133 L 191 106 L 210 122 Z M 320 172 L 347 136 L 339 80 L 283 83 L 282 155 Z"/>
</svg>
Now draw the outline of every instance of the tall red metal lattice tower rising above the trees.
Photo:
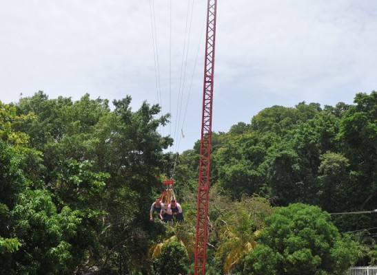
<svg viewBox="0 0 377 275">
<path fill-rule="evenodd" d="M 196 243 L 194 274 L 205 275 L 207 245 L 208 193 L 210 191 L 210 164 L 212 142 L 212 97 L 214 91 L 214 52 L 216 37 L 217 0 L 207 3 L 207 32 L 205 46 L 203 115 L 201 151 L 199 160 L 198 206 L 196 215 Z"/>
</svg>

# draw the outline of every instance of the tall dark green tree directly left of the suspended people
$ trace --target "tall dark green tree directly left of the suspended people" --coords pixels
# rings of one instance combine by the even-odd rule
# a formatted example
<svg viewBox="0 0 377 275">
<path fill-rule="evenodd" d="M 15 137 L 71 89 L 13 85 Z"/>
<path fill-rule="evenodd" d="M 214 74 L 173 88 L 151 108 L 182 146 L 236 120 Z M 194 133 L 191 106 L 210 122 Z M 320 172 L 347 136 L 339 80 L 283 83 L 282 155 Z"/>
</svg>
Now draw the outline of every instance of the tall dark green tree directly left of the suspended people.
<svg viewBox="0 0 377 275">
<path fill-rule="evenodd" d="M 114 100 L 114 113 L 106 118 L 113 121 L 114 128 L 105 128 L 110 130 L 107 135 L 101 132 L 101 138 L 105 137 L 105 140 L 99 145 L 105 154 L 101 155 L 99 165 L 111 175 L 105 188 L 108 232 L 101 235 L 101 242 L 111 252 L 106 259 L 112 253 L 122 253 L 125 263 L 131 261 L 136 270 L 145 273 L 148 239 L 156 238 L 157 230 L 151 227 L 147 212 L 165 165 L 163 148 L 167 148 L 172 140 L 158 133 L 168 115 L 154 118 L 160 111 L 157 105 L 144 102 L 139 110 L 132 112 L 130 102 L 129 96 Z M 138 232 L 137 238 L 134 232 Z M 127 250 L 133 253 L 127 253 Z M 133 261 L 135 257 L 137 261 Z M 103 264 L 118 265 L 116 261 Z"/>
</svg>

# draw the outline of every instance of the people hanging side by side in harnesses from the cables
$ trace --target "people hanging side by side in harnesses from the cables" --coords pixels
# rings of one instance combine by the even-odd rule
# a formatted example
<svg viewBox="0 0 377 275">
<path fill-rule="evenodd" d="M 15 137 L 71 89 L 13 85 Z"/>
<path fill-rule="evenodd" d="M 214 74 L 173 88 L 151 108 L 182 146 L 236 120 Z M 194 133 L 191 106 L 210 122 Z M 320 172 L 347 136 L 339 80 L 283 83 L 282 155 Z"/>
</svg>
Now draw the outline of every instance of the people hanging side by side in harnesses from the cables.
<svg viewBox="0 0 377 275">
<path fill-rule="evenodd" d="M 175 199 L 172 201 L 163 203 L 160 201 L 161 199 L 158 197 L 156 201 L 152 203 L 150 208 L 150 220 L 153 221 L 153 214 L 156 212 L 157 216 L 161 221 L 165 223 L 174 223 L 173 217 L 175 217 L 177 222 L 183 222 L 183 212 L 181 205 L 176 202 Z"/>
</svg>

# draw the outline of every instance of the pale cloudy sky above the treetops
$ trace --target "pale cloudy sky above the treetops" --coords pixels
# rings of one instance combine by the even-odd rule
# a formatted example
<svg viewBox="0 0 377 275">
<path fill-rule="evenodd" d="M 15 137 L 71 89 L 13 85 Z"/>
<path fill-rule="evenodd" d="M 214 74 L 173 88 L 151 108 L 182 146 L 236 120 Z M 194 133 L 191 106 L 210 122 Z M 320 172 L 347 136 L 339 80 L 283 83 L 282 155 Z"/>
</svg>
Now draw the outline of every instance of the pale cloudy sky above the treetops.
<svg viewBox="0 0 377 275">
<path fill-rule="evenodd" d="M 160 104 L 170 150 L 201 137 L 205 0 L 0 0 L 0 101 Z M 212 130 L 377 90 L 377 1 L 218 0 Z"/>
</svg>

